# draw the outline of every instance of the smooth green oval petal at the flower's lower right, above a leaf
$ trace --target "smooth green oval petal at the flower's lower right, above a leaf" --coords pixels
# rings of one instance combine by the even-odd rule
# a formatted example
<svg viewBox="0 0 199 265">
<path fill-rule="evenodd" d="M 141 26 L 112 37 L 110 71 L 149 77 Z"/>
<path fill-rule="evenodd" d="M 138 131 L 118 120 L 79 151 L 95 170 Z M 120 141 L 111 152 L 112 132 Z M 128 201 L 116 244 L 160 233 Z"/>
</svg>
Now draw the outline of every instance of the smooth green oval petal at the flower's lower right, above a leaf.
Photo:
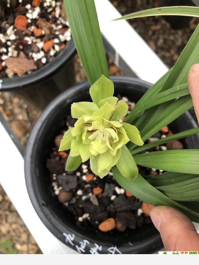
<svg viewBox="0 0 199 265">
<path fill-rule="evenodd" d="M 124 177 L 134 180 L 138 174 L 135 160 L 125 145 L 122 146 L 121 151 L 122 152 L 116 167 Z"/>
</svg>

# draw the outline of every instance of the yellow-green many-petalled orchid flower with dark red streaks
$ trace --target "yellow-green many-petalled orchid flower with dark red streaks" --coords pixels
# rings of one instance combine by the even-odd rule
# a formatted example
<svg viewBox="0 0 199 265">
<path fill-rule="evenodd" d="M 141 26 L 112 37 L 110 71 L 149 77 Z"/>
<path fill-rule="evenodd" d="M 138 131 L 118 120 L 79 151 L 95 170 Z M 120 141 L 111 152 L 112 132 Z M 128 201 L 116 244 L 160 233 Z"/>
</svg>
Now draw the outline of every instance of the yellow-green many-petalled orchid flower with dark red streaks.
<svg viewBox="0 0 199 265">
<path fill-rule="evenodd" d="M 128 106 L 113 97 L 113 92 L 113 82 L 102 75 L 90 87 L 93 102 L 72 104 L 72 117 L 78 120 L 74 128 L 65 132 L 59 148 L 59 151 L 70 149 L 66 170 L 76 170 L 90 159 L 91 170 L 101 178 L 114 165 L 124 177 L 137 177 L 137 165 L 126 144 L 144 143 L 135 126 L 118 121 L 127 115 Z"/>
</svg>

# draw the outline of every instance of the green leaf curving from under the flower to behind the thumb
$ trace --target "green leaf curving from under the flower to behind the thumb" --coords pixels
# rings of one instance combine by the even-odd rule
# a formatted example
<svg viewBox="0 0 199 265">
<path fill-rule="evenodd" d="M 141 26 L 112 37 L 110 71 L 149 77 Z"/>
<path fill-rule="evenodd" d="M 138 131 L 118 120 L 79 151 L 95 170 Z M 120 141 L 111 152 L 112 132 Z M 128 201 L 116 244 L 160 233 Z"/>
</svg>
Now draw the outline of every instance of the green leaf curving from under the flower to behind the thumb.
<svg viewBox="0 0 199 265">
<path fill-rule="evenodd" d="M 139 173 L 135 180 L 131 180 L 122 176 L 116 167 L 112 168 L 114 179 L 121 185 L 125 190 L 133 194 L 140 200 L 143 200 L 149 204 L 167 205 L 186 214 L 193 222 L 199 222 L 199 214 L 186 205 L 182 205 L 174 200 L 169 199 L 166 195 L 158 191 L 156 188 L 151 186 Z"/>
</svg>

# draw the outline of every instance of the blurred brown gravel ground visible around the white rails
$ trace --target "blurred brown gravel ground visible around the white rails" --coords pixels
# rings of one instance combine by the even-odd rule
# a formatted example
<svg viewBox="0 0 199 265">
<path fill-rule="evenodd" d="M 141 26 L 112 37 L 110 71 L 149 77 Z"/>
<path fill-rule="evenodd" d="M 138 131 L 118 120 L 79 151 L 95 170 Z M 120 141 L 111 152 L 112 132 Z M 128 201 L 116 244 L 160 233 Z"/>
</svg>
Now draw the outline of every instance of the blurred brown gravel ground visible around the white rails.
<svg viewBox="0 0 199 265">
<path fill-rule="evenodd" d="M 111 0 L 122 14 L 158 7 L 156 0 Z M 183 47 L 195 29 L 198 19 L 192 19 L 189 27 L 181 30 L 171 29 L 162 17 L 130 20 L 131 25 L 160 56 L 166 65 L 173 66 Z M 109 72 L 113 75 L 123 73 L 108 58 Z M 86 79 L 79 57 L 74 58 L 76 82 Z M 0 111 L 11 125 L 23 145 L 26 144 L 40 111 L 13 92 L 0 92 Z M 41 253 L 24 222 L 16 212 L 9 197 L 0 186 L 0 253 L 35 254 Z"/>
</svg>

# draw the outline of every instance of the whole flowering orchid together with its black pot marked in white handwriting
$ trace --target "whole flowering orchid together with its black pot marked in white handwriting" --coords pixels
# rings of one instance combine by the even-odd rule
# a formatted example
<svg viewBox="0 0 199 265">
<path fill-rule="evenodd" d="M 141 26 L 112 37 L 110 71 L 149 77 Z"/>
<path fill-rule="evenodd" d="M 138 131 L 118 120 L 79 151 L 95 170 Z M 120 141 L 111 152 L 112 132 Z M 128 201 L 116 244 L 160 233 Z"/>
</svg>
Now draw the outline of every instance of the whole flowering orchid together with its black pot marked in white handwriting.
<svg viewBox="0 0 199 265">
<path fill-rule="evenodd" d="M 127 231 L 126 238 L 125 235 L 112 231 L 115 228 L 113 214 L 116 214 L 117 222 L 125 204 L 130 209 L 134 205 L 133 200 L 137 205 L 142 200 L 155 206 L 172 206 L 185 213 L 192 221 L 199 222 L 199 150 L 196 149 L 199 148 L 199 128 L 187 113 L 193 107 L 187 87 L 187 73 L 192 64 L 199 62 L 199 26 L 174 67 L 150 87 L 149 83 L 136 79 L 109 79 L 94 0 L 64 0 L 64 4 L 73 40 L 90 84 L 82 83 L 62 93 L 44 110 L 35 124 L 25 156 L 25 177 L 30 199 L 49 230 L 80 253 L 151 253 L 161 247 L 157 230 L 150 226 L 143 228 L 144 232 L 139 230 L 137 234 Z M 174 14 L 199 16 L 198 10 L 197 7 L 165 7 L 133 13 L 120 19 Z M 136 104 L 131 111 L 124 98 L 119 99 L 117 93 L 134 98 Z M 60 156 L 58 149 L 53 149 L 48 169 L 53 172 L 53 164 L 59 163 L 52 178 L 62 181 L 64 185 L 68 185 L 69 179 L 71 180 L 71 190 L 67 190 L 68 186 L 65 185 L 62 192 L 58 191 L 57 194 L 65 196 L 61 198 L 58 195 L 59 202 L 62 201 L 70 209 L 74 202 L 79 202 L 78 207 L 75 205 L 72 208 L 73 212 L 79 214 L 77 223 L 69 215 L 65 215 L 57 198 L 51 195 L 49 181 L 43 177 L 48 172 L 45 160 L 48 158 L 49 148 L 60 132 L 60 125 L 56 128 L 56 124 L 62 124 L 66 120 L 65 112 L 67 115 L 71 114 L 75 121 L 72 126 L 68 124 L 65 133 L 61 135 L 61 143 L 59 141 L 57 145 Z M 154 137 L 172 123 L 175 125 L 175 134 L 160 139 Z M 151 137 L 153 140 L 149 141 Z M 184 147 L 187 149 L 153 149 L 178 139 L 184 139 Z M 70 152 L 66 151 L 69 149 Z M 63 164 L 66 173 L 62 171 Z M 151 177 L 147 171 L 143 174 L 138 167 L 158 170 L 159 174 Z M 90 174 L 81 176 L 81 170 Z M 116 190 L 126 192 L 126 197 L 134 195 L 138 199 L 124 198 L 125 195 L 122 194 L 120 197 L 123 201 L 118 213 L 114 212 L 118 209 L 116 203 L 105 206 L 112 214 L 108 218 L 104 210 L 98 212 L 96 207 L 101 200 L 107 199 L 107 194 L 102 193 L 104 186 L 100 187 L 100 181 L 104 183 L 106 178 L 110 181 L 112 175 L 114 183 L 121 186 L 121 189 L 117 187 Z M 82 194 L 79 188 L 86 185 L 90 188 L 91 182 L 87 177 L 91 177 L 99 185 L 95 193 L 94 189 L 93 194 L 89 193 L 90 197 Z M 110 187 L 112 182 L 108 184 Z M 111 199 L 107 200 L 110 202 L 114 199 L 111 195 Z M 110 231 L 107 235 L 103 233 L 106 232 L 103 222 L 98 226 L 102 232 L 81 226 L 85 218 L 85 214 L 80 216 L 82 209 L 90 204 L 87 200 L 95 205 L 92 205 L 90 222 L 95 222 L 95 216 L 100 216 L 102 221 L 103 218 L 108 218 L 106 221 L 111 229 L 107 230 Z M 132 218 L 133 216 L 131 215 Z M 128 220 L 124 222 L 133 229 L 133 219 L 129 219 L 129 216 L 126 219 Z M 139 216 L 135 223 L 139 222 L 138 219 Z"/>
</svg>

